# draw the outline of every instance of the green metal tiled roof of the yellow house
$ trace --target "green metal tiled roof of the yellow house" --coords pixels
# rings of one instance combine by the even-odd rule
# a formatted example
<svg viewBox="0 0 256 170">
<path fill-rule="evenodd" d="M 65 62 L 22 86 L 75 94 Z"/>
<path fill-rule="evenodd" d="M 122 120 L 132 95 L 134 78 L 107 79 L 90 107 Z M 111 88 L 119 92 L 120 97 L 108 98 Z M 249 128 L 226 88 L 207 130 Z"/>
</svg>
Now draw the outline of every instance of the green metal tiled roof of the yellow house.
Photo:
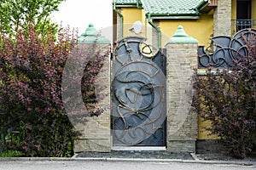
<svg viewBox="0 0 256 170">
<path fill-rule="evenodd" d="M 198 11 L 208 4 L 208 0 L 140 0 L 146 14 L 182 16 L 198 15 Z M 113 0 L 117 4 L 136 4 L 137 0 Z"/>
</svg>

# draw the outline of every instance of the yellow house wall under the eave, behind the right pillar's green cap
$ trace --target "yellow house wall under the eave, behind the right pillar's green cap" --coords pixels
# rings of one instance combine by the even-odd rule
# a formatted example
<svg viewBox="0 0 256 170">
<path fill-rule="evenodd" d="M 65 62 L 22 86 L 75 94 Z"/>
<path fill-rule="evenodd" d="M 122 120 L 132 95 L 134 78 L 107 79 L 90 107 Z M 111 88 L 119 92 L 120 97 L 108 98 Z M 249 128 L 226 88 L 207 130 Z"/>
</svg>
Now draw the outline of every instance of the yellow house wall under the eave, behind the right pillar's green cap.
<svg viewBox="0 0 256 170">
<path fill-rule="evenodd" d="M 184 31 L 198 40 L 198 45 L 208 46 L 209 38 L 213 33 L 213 14 L 202 14 L 199 20 L 160 20 L 160 29 L 163 36 L 169 38 L 177 30 L 177 26 L 183 26 Z M 165 39 L 164 37 L 162 38 Z M 166 42 L 162 41 L 162 45 Z"/>
</svg>

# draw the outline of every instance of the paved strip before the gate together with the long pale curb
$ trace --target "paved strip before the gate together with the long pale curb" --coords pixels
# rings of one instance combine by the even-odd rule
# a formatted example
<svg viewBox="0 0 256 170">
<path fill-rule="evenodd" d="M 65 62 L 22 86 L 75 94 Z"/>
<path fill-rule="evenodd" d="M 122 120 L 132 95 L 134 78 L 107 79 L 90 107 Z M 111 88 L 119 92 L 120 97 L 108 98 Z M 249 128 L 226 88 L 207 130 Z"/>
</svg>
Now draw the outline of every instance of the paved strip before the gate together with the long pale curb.
<svg viewBox="0 0 256 170">
<path fill-rule="evenodd" d="M 110 153 L 82 152 L 71 158 L 61 157 L 3 157 L 4 161 L 128 161 L 128 162 L 169 162 L 195 164 L 223 164 L 256 167 L 256 159 L 247 160 L 201 160 L 190 153 L 174 154 L 166 151 L 112 151 Z"/>
</svg>

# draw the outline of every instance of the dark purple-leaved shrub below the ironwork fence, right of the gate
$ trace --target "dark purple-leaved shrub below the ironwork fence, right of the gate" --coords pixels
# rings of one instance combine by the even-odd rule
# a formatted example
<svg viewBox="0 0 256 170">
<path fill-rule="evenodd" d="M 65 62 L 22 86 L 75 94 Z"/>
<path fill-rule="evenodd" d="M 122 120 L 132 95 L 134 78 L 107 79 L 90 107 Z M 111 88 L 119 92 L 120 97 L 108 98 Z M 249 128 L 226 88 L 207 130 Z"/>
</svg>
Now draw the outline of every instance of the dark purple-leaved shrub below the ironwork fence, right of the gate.
<svg viewBox="0 0 256 170">
<path fill-rule="evenodd" d="M 243 41 L 248 54 L 235 68 L 195 75 L 193 101 L 204 120 L 212 122 L 207 129 L 238 158 L 248 156 L 256 143 L 256 40 Z"/>
</svg>

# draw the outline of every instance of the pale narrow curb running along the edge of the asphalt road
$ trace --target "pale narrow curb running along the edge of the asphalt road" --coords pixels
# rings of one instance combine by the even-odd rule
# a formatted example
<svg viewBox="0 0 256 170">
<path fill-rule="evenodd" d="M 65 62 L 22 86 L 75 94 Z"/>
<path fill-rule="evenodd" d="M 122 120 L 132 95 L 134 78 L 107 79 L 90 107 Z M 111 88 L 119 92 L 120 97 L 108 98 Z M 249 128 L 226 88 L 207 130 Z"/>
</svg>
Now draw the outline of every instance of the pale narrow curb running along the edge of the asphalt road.
<svg viewBox="0 0 256 170">
<path fill-rule="evenodd" d="M 134 162 L 177 162 L 177 163 L 199 163 L 199 164 L 228 164 L 242 166 L 256 166 L 256 161 L 202 161 L 181 159 L 143 159 L 143 158 L 108 158 L 108 157 L 3 157 L 1 161 L 134 161 Z"/>
</svg>

